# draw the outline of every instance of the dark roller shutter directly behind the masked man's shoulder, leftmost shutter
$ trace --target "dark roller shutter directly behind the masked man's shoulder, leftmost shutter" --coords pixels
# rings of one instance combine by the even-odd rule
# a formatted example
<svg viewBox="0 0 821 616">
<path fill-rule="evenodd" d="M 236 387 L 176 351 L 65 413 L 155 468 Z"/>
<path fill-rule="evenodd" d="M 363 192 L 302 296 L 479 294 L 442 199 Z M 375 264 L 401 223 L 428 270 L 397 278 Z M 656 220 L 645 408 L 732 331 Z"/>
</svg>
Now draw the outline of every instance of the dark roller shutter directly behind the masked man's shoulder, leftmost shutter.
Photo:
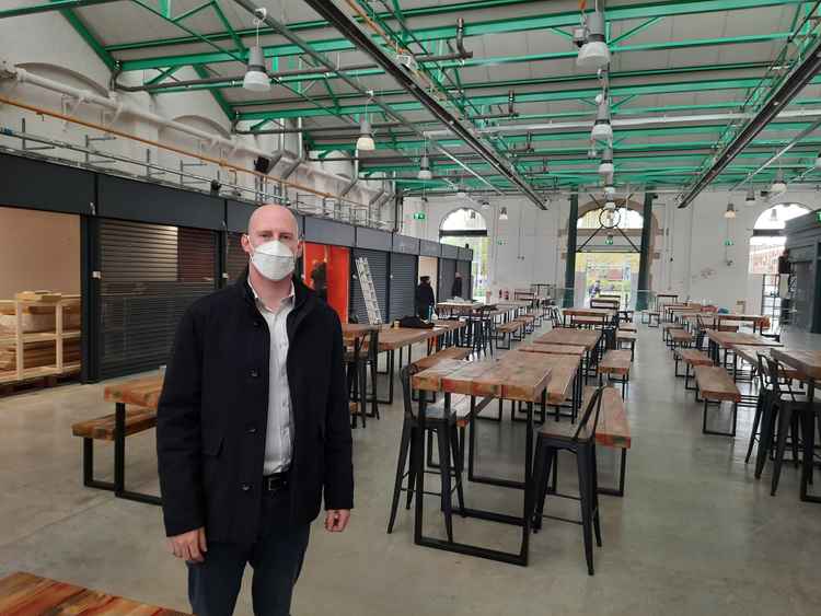
<svg viewBox="0 0 821 616">
<path fill-rule="evenodd" d="M 100 376 L 169 361 L 180 317 L 216 289 L 217 234 L 140 222 L 100 221 Z"/>
</svg>

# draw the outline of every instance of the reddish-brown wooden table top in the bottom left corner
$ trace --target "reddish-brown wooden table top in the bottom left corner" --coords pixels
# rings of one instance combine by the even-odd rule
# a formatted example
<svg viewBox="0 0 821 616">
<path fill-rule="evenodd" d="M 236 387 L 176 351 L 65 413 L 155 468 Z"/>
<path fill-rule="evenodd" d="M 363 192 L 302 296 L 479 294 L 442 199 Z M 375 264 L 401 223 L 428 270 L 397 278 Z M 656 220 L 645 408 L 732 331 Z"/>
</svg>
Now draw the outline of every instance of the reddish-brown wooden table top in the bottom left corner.
<svg viewBox="0 0 821 616">
<path fill-rule="evenodd" d="M 183 612 L 21 572 L 0 580 L 0 614 L 184 616 Z"/>
</svg>

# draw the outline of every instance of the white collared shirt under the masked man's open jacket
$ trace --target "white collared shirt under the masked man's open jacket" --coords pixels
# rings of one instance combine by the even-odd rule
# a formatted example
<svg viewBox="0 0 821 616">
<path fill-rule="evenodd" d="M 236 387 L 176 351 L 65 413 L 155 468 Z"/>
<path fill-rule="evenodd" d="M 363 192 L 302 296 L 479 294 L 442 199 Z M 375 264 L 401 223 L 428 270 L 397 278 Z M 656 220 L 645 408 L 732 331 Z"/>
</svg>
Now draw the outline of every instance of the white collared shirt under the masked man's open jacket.
<svg viewBox="0 0 821 616">
<path fill-rule="evenodd" d="M 288 329 L 286 321 L 293 310 L 293 283 L 291 292 L 284 298 L 276 310 L 263 304 L 259 294 L 248 279 L 248 287 L 254 293 L 259 314 L 268 324 L 270 333 L 270 359 L 268 362 L 268 426 L 265 432 L 265 464 L 263 475 L 282 473 L 291 465 L 293 423 L 291 412 L 291 393 L 288 388 Z"/>
</svg>

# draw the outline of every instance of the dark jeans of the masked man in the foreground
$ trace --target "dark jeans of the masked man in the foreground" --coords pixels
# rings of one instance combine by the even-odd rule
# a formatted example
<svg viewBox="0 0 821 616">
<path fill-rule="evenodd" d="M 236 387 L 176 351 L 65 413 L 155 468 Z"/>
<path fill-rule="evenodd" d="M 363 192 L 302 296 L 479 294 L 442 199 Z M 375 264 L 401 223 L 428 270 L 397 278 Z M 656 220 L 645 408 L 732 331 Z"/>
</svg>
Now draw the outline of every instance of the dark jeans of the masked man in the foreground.
<svg viewBox="0 0 821 616">
<path fill-rule="evenodd" d="M 289 504 L 288 489 L 265 492 L 256 543 L 208 543 L 205 561 L 188 563 L 188 600 L 197 616 L 233 614 L 246 563 L 254 569 L 254 614 L 289 616 L 293 584 L 302 569 L 311 528 L 288 523 Z"/>
</svg>

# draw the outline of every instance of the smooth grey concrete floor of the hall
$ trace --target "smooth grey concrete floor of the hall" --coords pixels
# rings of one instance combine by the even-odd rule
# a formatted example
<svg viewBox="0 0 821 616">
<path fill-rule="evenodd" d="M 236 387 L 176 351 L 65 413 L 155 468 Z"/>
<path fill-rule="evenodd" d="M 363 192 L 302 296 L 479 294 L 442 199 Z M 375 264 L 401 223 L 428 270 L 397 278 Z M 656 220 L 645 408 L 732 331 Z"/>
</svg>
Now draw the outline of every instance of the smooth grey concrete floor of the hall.
<svg viewBox="0 0 821 616">
<path fill-rule="evenodd" d="M 796 344 L 819 346 L 812 338 Z M 761 481 L 753 478 L 743 463 L 751 410 L 741 410 L 736 440 L 703 435 L 701 405 L 672 371 L 660 330 L 639 326 L 626 496 L 601 499 L 594 577 L 586 572 L 580 528 L 566 523 L 545 521 L 532 537 L 528 568 L 416 547 L 404 510 L 388 535 L 397 402 L 382 408 L 381 421 L 355 431 L 357 509 L 342 535 L 315 526 L 293 614 L 818 615 L 821 505 L 798 500 L 791 466 L 775 498 L 770 467 Z M 0 398 L 0 576 L 26 570 L 186 611 L 185 567 L 166 553 L 160 510 L 81 486 L 81 442 L 70 426 L 112 410 L 103 386 Z M 130 488 L 157 490 L 153 439 L 153 431 L 128 439 Z M 522 425 L 481 423 L 479 469 L 516 477 L 522 446 Z M 97 472 L 105 476 L 111 446 L 99 449 Z M 600 451 L 604 483 L 615 457 Z M 562 469 L 569 491 L 569 458 Z M 502 488 L 467 485 L 466 499 L 498 511 L 521 507 L 521 492 Z M 548 509 L 575 516 L 574 504 Z M 443 534 L 435 505 L 426 530 Z M 517 549 L 516 531 L 455 522 L 458 539 L 509 550 Z M 251 614 L 246 591 L 238 614 Z"/>
</svg>

